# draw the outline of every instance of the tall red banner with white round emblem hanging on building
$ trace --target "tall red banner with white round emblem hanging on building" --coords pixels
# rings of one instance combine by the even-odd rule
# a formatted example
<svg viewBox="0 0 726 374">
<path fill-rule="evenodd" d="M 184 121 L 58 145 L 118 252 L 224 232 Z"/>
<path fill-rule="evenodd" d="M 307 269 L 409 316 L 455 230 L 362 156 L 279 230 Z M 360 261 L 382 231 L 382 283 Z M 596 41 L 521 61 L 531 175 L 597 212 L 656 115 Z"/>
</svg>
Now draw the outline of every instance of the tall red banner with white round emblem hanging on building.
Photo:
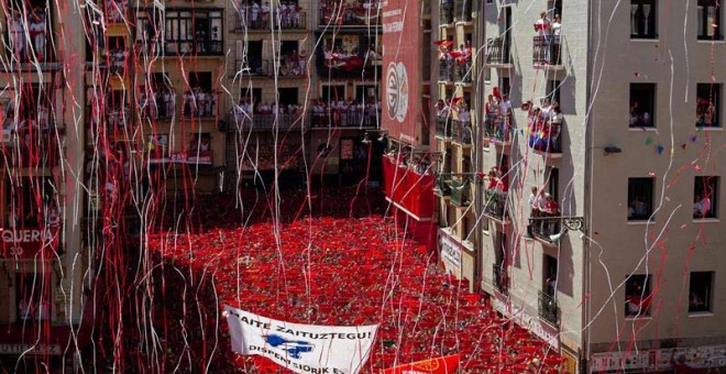
<svg viewBox="0 0 726 374">
<path fill-rule="evenodd" d="M 428 58 L 420 56 L 420 2 L 388 0 L 383 4 L 382 128 L 392 139 L 419 145 L 420 57 Z"/>
</svg>

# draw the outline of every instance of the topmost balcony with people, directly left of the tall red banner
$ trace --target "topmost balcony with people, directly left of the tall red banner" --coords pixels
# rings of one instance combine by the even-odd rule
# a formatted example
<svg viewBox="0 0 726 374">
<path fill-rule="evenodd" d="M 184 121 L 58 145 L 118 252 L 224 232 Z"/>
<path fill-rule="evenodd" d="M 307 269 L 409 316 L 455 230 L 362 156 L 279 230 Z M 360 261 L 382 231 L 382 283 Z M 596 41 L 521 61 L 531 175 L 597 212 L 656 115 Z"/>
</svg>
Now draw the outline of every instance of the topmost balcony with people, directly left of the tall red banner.
<svg viewBox="0 0 726 374">
<path fill-rule="evenodd" d="M 342 7 L 340 7 L 342 4 Z M 328 0 L 320 3 L 319 28 L 369 28 L 381 25 L 381 10 L 377 1 L 349 3 Z"/>
</svg>

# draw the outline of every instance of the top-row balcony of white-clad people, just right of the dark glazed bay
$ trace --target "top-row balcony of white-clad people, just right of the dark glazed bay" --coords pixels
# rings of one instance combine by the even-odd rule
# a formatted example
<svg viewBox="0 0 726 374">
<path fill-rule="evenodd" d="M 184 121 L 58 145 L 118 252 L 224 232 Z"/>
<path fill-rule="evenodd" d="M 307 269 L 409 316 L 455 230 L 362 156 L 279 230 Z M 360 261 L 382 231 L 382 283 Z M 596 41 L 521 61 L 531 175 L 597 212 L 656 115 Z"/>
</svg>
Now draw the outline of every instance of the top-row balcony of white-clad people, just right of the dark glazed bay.
<svg viewBox="0 0 726 374">
<path fill-rule="evenodd" d="M 255 14 L 253 19 L 253 13 L 249 12 L 249 9 L 240 8 L 240 10 L 233 13 L 230 23 L 232 24 L 232 32 L 248 32 L 250 31 L 271 31 L 273 30 L 305 30 L 307 26 L 307 13 L 302 11 L 297 11 L 296 9 L 289 9 L 286 7 L 285 10 L 277 9 L 277 12 L 273 14 L 272 20 L 270 14 L 263 16 L 264 13 Z"/>
</svg>

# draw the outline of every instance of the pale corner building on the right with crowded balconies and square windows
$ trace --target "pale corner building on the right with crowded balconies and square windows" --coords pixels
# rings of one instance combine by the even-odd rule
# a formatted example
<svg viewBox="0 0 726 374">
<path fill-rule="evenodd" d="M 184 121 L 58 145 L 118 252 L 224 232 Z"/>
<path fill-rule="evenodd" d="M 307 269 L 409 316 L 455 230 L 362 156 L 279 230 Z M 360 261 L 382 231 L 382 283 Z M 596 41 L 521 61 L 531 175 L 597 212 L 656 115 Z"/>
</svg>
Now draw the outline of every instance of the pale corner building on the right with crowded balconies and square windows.
<svg viewBox="0 0 726 374">
<path fill-rule="evenodd" d="M 455 18 L 455 6 L 441 9 Z M 474 4 L 471 151 L 457 141 L 460 54 L 442 51 L 441 258 L 571 371 L 726 364 L 722 13 L 714 1 Z M 465 50 L 465 23 L 440 19 L 437 40 Z M 455 196 L 468 170 L 469 210 L 453 204 L 470 201 Z"/>
</svg>

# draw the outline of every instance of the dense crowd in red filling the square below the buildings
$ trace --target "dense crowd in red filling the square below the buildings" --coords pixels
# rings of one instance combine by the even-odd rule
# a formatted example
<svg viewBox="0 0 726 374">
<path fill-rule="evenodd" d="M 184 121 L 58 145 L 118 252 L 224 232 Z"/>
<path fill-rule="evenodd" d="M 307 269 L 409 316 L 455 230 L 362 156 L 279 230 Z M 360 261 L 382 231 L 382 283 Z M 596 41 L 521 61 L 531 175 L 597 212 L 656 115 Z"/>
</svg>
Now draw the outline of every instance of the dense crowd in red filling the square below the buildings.
<svg viewBox="0 0 726 374">
<path fill-rule="evenodd" d="M 208 339 L 206 345 L 180 337 L 190 331 L 187 323 L 199 323 L 199 316 L 216 323 L 215 310 L 221 314 L 227 304 L 290 322 L 378 324 L 365 373 L 452 353 L 462 354 L 469 373 L 560 372 L 563 360 L 546 343 L 470 294 L 466 282 L 444 274 L 430 251 L 385 218 L 377 194 L 314 190 L 306 201 L 298 191 L 283 195 L 279 209 L 256 194 L 241 199 L 241 210 L 219 197 L 213 204 L 207 198 L 196 202 L 186 212 L 184 200 L 168 206 L 175 213 L 158 228 L 166 233 L 148 241 L 161 268 L 167 268 L 167 276 L 154 282 L 165 285 L 165 297 L 155 302 L 172 319 L 157 321 L 165 327 L 158 333 L 168 344 L 169 364 L 185 350 L 198 360 L 193 366 L 209 360 L 209 348 L 206 353 L 197 349 L 212 344 L 212 327 L 196 332 Z M 272 211 L 279 212 L 278 227 Z M 190 234 L 166 231 L 185 219 L 194 228 Z M 239 221 L 248 223 L 234 224 Z M 179 271 L 190 274 L 179 276 Z M 207 290 L 199 293 L 202 285 Z M 184 289 L 197 289 L 199 311 L 182 314 L 193 301 L 191 294 L 180 294 Z M 215 365 L 232 354 L 227 326 L 219 329 L 221 352 Z M 255 356 L 233 354 L 224 364 L 246 373 L 284 372 Z"/>
</svg>

